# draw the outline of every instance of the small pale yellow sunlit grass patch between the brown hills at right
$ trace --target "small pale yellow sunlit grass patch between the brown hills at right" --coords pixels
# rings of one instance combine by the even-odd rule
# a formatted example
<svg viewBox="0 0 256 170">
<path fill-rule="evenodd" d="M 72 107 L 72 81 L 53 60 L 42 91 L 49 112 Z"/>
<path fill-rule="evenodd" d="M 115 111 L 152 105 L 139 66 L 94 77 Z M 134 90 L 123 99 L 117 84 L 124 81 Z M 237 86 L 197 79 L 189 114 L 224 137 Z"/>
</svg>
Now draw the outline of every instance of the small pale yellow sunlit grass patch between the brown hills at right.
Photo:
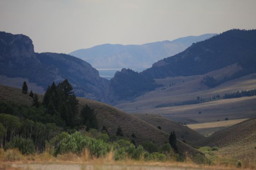
<svg viewBox="0 0 256 170">
<path fill-rule="evenodd" d="M 195 130 L 196 132 L 200 133 L 204 136 L 210 136 L 212 133 L 225 129 L 227 127 L 236 125 L 240 122 L 243 122 L 247 119 L 235 119 L 235 120 L 224 120 L 224 121 L 217 121 L 217 122 L 207 122 L 207 123 L 198 123 L 198 124 L 190 124 L 187 125 L 189 128 Z"/>
</svg>

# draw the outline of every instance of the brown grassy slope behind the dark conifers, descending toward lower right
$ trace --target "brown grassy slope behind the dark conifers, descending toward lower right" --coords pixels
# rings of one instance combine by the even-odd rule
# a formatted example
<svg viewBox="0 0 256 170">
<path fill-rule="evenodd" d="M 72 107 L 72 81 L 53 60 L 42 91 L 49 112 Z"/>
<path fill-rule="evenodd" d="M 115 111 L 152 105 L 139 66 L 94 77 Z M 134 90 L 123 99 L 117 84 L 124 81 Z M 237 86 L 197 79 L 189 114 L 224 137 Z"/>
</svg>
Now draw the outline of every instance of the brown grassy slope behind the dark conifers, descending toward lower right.
<svg viewBox="0 0 256 170">
<path fill-rule="evenodd" d="M 11 101 L 19 105 L 32 105 L 31 97 L 22 94 L 21 89 L 0 85 L 0 91 L 0 102 Z M 43 94 L 39 95 L 39 99 L 42 101 Z M 155 142 L 161 145 L 168 142 L 169 133 L 159 130 L 157 127 L 149 125 L 135 116 L 120 111 L 119 109 L 102 102 L 84 98 L 78 99 L 79 109 L 85 105 L 89 105 L 90 108 L 94 109 L 100 130 L 104 125 L 107 127 L 110 134 L 115 135 L 117 127 L 120 126 L 124 136 L 131 136 L 132 133 L 136 135 L 135 141 L 137 144 L 142 144 L 143 142 Z M 198 150 L 195 150 L 193 147 L 181 142 L 180 140 L 177 140 L 177 147 L 179 153 L 182 155 L 185 155 L 185 152 L 192 155 L 200 153 Z"/>
</svg>

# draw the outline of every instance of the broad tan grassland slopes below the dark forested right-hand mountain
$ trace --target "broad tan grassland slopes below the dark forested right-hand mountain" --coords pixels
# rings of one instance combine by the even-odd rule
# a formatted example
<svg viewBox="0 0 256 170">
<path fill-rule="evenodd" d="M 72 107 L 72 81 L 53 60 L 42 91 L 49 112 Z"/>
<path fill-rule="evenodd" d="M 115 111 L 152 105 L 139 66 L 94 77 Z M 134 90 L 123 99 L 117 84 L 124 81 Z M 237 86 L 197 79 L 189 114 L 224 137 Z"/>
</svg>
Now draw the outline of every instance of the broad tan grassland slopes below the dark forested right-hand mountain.
<svg viewBox="0 0 256 170">
<path fill-rule="evenodd" d="M 239 70 L 236 65 L 233 65 L 206 75 L 218 78 L 224 75 L 228 76 L 236 69 Z M 223 120 L 225 116 L 228 116 L 229 119 L 244 119 L 256 115 L 255 96 L 225 99 L 197 105 L 155 108 L 156 105 L 188 101 L 195 99 L 197 96 L 209 98 L 217 94 L 224 95 L 225 93 L 256 88 L 256 74 L 225 82 L 215 88 L 207 88 L 201 85 L 201 80 L 206 75 L 157 79 L 156 81 L 165 85 L 164 88 L 166 89 L 163 89 L 163 87 L 157 88 L 137 97 L 132 102 L 121 101 L 115 106 L 128 113 L 155 113 L 165 115 L 175 122 L 189 123 L 214 122 L 218 119 Z M 176 84 L 169 87 L 171 83 Z M 202 114 L 198 115 L 198 111 L 201 111 Z"/>
</svg>

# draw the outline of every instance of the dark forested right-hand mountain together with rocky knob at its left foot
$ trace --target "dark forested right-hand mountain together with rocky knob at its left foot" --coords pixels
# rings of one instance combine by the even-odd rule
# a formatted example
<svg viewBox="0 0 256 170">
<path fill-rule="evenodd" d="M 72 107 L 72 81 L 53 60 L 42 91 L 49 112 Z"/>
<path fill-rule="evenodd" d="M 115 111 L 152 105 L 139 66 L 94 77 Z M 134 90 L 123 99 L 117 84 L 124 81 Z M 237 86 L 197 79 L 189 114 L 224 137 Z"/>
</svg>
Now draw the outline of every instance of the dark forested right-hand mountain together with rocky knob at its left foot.
<svg viewBox="0 0 256 170">
<path fill-rule="evenodd" d="M 202 75 L 236 63 L 243 69 L 223 79 L 223 82 L 256 73 L 256 30 L 226 31 L 208 40 L 194 43 L 185 51 L 161 59 L 151 68 L 137 74 L 124 69 L 116 72 L 110 81 L 111 93 L 116 96 L 118 94 L 118 98 L 113 97 L 116 100 L 125 99 L 155 87 L 154 81 L 143 84 L 140 82 L 143 79 Z M 140 85 L 143 85 L 143 88 L 140 88 Z M 121 93 L 122 91 L 124 92 Z"/>
</svg>

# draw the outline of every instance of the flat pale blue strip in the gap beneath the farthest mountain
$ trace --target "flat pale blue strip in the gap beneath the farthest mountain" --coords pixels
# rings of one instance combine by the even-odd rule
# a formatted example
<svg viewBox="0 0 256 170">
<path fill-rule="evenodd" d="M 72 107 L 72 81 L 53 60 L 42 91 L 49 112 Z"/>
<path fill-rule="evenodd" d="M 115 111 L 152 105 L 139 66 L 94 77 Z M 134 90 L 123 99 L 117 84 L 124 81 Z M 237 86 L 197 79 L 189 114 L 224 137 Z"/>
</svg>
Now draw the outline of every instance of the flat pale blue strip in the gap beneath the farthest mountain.
<svg viewBox="0 0 256 170">
<path fill-rule="evenodd" d="M 99 71 L 99 76 L 110 80 L 114 77 L 116 71 L 121 71 L 122 68 L 96 68 Z M 147 68 L 131 68 L 133 71 L 141 72 Z"/>
</svg>

